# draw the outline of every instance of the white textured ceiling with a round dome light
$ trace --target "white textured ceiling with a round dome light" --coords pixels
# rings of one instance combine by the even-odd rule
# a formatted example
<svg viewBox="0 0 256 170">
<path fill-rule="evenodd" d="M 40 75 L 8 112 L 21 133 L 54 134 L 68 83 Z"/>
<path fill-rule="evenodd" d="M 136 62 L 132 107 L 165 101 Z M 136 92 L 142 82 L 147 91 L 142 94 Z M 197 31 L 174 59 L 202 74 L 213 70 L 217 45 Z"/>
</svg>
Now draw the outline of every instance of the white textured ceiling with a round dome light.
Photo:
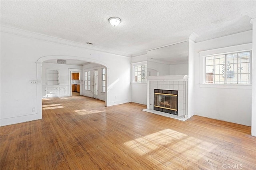
<svg viewBox="0 0 256 170">
<path fill-rule="evenodd" d="M 251 30 L 256 1 L 1 1 L 1 25 L 136 55 Z M 121 18 L 113 27 L 108 18 Z"/>
</svg>

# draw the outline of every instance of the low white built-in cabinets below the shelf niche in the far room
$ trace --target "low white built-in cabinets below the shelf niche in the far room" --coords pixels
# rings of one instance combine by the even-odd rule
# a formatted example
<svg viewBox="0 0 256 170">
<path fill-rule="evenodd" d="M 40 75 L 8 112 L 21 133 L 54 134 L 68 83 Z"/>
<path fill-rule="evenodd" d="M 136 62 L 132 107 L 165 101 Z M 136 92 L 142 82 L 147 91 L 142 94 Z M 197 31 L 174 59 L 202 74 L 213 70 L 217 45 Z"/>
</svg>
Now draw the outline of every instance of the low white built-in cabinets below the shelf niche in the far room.
<svg viewBox="0 0 256 170">
<path fill-rule="evenodd" d="M 69 96 L 68 85 L 54 85 L 42 87 L 42 98 Z"/>
</svg>

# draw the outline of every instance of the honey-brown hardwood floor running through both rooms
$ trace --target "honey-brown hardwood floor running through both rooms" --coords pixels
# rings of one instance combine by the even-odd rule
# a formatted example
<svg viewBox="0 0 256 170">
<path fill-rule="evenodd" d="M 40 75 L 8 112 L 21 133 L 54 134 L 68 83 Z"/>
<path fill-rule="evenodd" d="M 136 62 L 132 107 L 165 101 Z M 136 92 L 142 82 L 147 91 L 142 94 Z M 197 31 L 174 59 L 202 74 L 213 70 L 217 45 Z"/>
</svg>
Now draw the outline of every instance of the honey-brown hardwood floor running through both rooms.
<svg viewBox="0 0 256 170">
<path fill-rule="evenodd" d="M 84 96 L 43 99 L 42 120 L 1 127 L 1 170 L 255 170 L 250 127 L 104 104 Z"/>
</svg>

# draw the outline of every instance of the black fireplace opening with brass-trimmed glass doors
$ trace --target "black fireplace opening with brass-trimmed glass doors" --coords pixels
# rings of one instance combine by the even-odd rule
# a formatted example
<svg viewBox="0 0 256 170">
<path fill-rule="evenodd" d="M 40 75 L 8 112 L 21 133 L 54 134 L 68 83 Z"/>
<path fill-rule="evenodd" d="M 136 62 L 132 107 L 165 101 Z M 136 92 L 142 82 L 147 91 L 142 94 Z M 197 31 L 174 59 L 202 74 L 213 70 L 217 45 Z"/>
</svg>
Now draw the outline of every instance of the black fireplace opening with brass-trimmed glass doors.
<svg viewBox="0 0 256 170">
<path fill-rule="evenodd" d="M 154 110 L 178 115 L 178 91 L 154 89 Z"/>
</svg>

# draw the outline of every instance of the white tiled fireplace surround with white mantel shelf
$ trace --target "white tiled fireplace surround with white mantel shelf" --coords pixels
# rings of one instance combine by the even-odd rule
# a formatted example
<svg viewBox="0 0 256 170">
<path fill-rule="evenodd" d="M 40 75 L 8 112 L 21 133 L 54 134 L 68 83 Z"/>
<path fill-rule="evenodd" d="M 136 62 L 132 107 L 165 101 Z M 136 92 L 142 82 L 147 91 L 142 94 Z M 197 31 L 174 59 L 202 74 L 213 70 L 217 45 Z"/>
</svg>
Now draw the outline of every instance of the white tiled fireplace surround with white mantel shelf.
<svg viewBox="0 0 256 170">
<path fill-rule="evenodd" d="M 147 109 L 154 110 L 154 89 L 178 90 L 178 116 L 187 118 L 187 75 L 164 75 L 147 77 Z M 171 117 L 172 114 L 169 114 Z M 168 117 L 169 117 L 168 116 Z"/>
</svg>

